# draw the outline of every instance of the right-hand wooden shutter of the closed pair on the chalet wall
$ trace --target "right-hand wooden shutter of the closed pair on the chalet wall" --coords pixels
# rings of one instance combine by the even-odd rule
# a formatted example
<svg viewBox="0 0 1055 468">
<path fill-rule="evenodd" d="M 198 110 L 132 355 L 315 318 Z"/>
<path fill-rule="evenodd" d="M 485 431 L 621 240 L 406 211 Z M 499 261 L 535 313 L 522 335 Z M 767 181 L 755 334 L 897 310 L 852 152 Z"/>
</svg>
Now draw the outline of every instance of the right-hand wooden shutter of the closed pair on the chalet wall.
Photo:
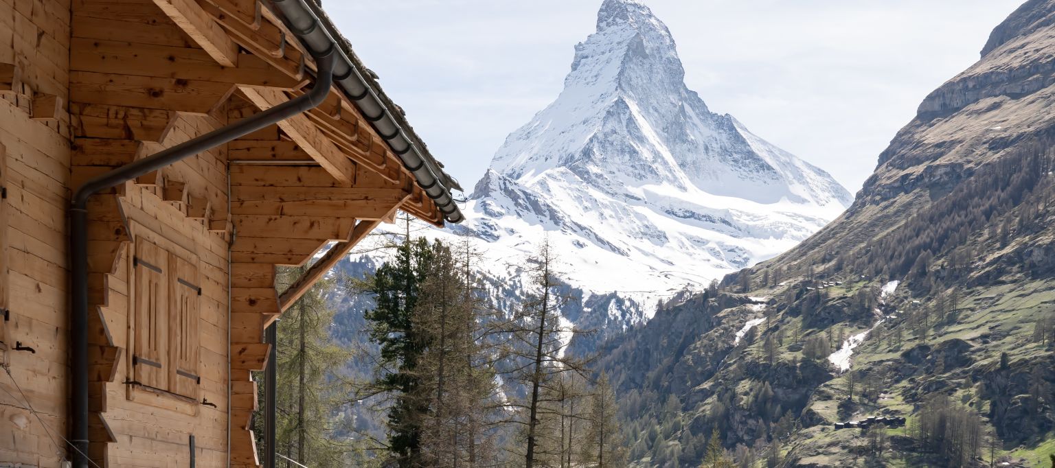
<svg viewBox="0 0 1055 468">
<path fill-rule="evenodd" d="M 169 391 L 197 399 L 198 389 L 198 266 L 175 254 L 170 257 L 172 268 L 169 311 L 172 346 L 172 370 L 169 373 Z"/>
</svg>

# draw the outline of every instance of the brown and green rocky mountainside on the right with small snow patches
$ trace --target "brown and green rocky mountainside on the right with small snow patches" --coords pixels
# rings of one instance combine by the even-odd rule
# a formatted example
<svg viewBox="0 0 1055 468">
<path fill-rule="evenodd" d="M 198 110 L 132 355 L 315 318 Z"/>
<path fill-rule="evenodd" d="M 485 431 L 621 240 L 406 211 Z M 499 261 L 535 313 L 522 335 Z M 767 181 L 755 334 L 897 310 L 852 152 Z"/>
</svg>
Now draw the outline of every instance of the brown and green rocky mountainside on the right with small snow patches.
<svg viewBox="0 0 1055 468">
<path fill-rule="evenodd" d="M 741 460 L 782 466 L 1047 461 L 1053 18 L 1055 1 L 1031 0 L 997 26 L 830 225 L 608 342 L 639 464 L 696 463 L 712 428 Z M 909 427 L 835 426 L 869 416 Z"/>
</svg>

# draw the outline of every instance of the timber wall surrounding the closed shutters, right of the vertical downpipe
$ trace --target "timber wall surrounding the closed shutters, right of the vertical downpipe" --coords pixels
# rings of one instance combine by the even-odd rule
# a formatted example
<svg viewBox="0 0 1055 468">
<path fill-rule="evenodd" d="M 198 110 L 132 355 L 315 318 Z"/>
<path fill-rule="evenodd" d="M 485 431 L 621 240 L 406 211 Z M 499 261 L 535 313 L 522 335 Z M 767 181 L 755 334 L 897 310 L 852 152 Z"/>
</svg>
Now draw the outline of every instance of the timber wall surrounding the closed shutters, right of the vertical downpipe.
<svg viewBox="0 0 1055 468">
<path fill-rule="evenodd" d="M 166 77 L 151 60 L 209 59 L 154 2 L 75 0 L 70 72 L 73 184 L 227 123 L 229 84 Z M 162 75 L 162 76 L 157 76 Z M 227 149 L 192 156 L 94 197 L 92 455 L 100 466 L 226 466 L 228 456 Z M 198 261 L 196 398 L 137 381 L 136 238 Z M 168 366 L 168 363 L 166 363 Z M 168 368 L 168 367 L 167 367 Z"/>
</svg>

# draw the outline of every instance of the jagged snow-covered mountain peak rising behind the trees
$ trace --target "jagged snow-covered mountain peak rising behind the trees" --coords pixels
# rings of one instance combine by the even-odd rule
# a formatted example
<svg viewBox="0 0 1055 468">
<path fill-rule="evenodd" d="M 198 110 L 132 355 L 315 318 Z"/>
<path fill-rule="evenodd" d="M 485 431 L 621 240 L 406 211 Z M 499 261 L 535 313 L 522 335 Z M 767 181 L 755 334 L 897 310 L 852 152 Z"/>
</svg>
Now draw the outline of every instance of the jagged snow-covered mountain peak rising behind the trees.
<svg viewBox="0 0 1055 468">
<path fill-rule="evenodd" d="M 431 235 L 479 239 L 499 280 L 548 236 L 584 296 L 572 315 L 607 328 L 786 251 L 850 200 L 824 171 L 711 112 L 645 4 L 605 0 L 563 91 L 506 138 L 467 220 Z"/>
</svg>

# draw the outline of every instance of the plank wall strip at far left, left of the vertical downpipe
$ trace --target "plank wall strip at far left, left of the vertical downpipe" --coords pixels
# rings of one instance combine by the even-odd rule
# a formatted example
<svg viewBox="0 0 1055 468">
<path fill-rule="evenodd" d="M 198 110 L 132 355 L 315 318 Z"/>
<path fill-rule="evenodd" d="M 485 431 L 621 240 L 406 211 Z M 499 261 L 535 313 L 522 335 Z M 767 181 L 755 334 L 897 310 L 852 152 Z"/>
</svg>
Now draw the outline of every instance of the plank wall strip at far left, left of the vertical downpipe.
<svg viewBox="0 0 1055 468">
<path fill-rule="evenodd" d="M 27 466 L 65 453 L 69 47 L 70 0 L 0 0 L 0 462 Z"/>
</svg>

